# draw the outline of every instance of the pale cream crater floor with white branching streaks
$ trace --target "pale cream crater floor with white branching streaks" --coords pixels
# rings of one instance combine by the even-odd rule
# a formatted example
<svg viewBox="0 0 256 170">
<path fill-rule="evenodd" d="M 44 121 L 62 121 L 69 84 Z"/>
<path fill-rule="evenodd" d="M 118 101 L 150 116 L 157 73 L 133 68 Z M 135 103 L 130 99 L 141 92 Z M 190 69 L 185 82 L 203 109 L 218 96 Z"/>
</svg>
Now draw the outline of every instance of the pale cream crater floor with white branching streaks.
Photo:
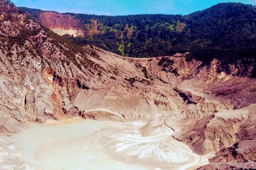
<svg viewBox="0 0 256 170">
<path fill-rule="evenodd" d="M 195 169 L 208 163 L 210 155 L 196 155 L 187 145 L 173 139 L 173 131 L 167 127 L 142 137 L 139 128 L 144 124 L 77 117 L 31 123 L 29 129 L 14 136 L 12 152 L 20 154 L 20 162 L 25 165 L 20 169 L 36 170 Z M 1 166 L 0 162 L 1 167 L 5 169 L 7 165 Z"/>
</svg>

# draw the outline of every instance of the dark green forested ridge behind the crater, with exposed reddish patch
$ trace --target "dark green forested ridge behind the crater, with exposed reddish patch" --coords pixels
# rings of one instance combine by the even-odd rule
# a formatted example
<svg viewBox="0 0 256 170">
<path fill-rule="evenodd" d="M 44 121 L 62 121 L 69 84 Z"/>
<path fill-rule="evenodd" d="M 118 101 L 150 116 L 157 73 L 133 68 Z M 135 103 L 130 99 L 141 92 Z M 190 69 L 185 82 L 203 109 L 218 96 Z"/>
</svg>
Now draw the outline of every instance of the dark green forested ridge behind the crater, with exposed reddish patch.
<svg viewBox="0 0 256 170">
<path fill-rule="evenodd" d="M 78 44 L 94 44 L 131 57 L 173 55 L 189 51 L 209 64 L 213 58 L 227 64 L 240 60 L 238 76 L 255 76 L 256 9 L 241 3 L 223 3 L 182 15 L 98 16 L 59 14 L 22 8 L 60 35 Z M 65 24 L 62 24 L 65 23 Z"/>
</svg>

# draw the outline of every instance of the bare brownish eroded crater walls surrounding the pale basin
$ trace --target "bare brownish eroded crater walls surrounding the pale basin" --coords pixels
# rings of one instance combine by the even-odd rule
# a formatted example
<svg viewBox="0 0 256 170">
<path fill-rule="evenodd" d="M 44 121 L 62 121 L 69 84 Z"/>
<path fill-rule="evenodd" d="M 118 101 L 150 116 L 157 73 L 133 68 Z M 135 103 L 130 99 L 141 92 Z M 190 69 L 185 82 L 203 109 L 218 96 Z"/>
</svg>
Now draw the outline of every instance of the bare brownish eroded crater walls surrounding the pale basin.
<svg viewBox="0 0 256 170">
<path fill-rule="evenodd" d="M 219 73 L 219 60 L 201 67 L 189 53 L 126 58 L 80 47 L 7 1 L 1 1 L 0 39 L 1 133 L 75 115 L 144 120 L 174 129 L 196 153 L 217 152 L 210 162 L 218 166 L 255 167 L 248 143 L 255 140 L 256 81 L 232 76 L 235 69 Z"/>
</svg>

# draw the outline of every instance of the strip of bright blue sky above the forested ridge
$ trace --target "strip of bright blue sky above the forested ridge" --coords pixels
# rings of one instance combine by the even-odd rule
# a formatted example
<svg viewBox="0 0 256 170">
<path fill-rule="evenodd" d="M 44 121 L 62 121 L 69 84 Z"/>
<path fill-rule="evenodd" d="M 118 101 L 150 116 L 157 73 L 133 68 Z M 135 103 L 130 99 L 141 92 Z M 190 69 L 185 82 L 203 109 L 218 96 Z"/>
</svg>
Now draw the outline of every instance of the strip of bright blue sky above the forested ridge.
<svg viewBox="0 0 256 170">
<path fill-rule="evenodd" d="M 17 6 L 29 8 L 97 15 L 187 15 L 221 2 L 256 5 L 256 0 L 12 0 L 12 2 Z"/>
</svg>

